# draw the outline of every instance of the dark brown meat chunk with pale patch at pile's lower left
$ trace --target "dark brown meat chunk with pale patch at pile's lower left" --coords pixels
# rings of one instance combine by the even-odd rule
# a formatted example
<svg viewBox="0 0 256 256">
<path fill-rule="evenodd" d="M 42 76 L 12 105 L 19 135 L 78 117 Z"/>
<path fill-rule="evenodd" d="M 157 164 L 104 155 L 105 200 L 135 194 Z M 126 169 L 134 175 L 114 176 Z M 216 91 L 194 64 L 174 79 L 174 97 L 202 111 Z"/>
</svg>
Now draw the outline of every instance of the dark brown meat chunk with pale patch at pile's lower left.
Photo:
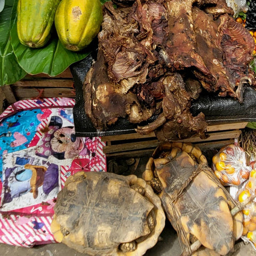
<svg viewBox="0 0 256 256">
<path fill-rule="evenodd" d="M 86 75 L 83 90 L 86 114 L 99 130 L 107 129 L 119 117 L 129 116 L 130 122 L 140 123 L 155 112 L 155 108 L 141 106 L 134 93 L 122 94 L 114 86 L 108 77 L 101 50 L 98 52 L 98 60 Z"/>
</svg>

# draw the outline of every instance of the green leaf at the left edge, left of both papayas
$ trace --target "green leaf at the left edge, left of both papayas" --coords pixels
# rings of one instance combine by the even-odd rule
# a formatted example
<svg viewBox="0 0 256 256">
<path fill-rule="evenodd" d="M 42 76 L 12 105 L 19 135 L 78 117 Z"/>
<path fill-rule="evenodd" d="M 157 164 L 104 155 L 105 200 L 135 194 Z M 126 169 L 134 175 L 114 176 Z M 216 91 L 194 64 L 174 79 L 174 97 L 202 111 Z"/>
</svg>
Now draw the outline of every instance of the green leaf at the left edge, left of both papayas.
<svg viewBox="0 0 256 256">
<path fill-rule="evenodd" d="M 0 13 L 0 86 L 12 84 L 26 75 L 19 66 L 10 41 L 10 18 L 12 2 L 5 1 L 5 8 Z"/>
</svg>

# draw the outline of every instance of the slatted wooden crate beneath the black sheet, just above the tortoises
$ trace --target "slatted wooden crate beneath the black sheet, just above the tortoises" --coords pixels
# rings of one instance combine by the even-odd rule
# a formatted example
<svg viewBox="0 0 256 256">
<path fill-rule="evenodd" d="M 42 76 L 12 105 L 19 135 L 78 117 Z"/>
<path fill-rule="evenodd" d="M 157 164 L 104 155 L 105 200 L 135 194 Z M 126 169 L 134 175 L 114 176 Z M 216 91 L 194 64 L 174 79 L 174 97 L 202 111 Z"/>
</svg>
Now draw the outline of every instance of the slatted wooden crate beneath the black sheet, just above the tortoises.
<svg viewBox="0 0 256 256">
<path fill-rule="evenodd" d="M 191 137 L 189 139 L 180 140 L 183 142 L 191 142 L 196 144 L 201 150 L 211 148 L 221 148 L 230 143 L 234 143 L 235 139 L 241 135 L 241 129 L 247 125 L 247 122 L 229 123 L 221 125 L 209 125 L 206 139 Z M 147 135 L 138 133 L 113 135 L 101 137 L 102 141 L 106 141 L 103 152 L 107 157 L 141 157 L 151 155 L 154 149 L 161 143 L 152 132 Z"/>
</svg>

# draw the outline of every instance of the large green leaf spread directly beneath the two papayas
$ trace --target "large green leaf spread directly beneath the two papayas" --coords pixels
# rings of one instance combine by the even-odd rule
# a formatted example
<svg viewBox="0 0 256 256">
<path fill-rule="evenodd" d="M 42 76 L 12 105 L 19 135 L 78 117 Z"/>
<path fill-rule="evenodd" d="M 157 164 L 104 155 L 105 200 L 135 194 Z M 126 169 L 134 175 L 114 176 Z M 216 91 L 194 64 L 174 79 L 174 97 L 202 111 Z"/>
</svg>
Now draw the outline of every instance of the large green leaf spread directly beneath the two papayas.
<svg viewBox="0 0 256 256">
<path fill-rule="evenodd" d="M 14 1 L 14 5 L 15 5 Z M 60 43 L 57 35 L 50 39 L 50 42 L 40 48 L 31 49 L 20 43 L 17 33 L 17 11 L 13 8 L 11 28 L 11 43 L 14 54 L 19 65 L 29 74 L 45 73 L 50 76 L 56 76 L 72 63 L 84 59 L 89 53 L 89 48 L 81 52 L 72 52 Z"/>
</svg>

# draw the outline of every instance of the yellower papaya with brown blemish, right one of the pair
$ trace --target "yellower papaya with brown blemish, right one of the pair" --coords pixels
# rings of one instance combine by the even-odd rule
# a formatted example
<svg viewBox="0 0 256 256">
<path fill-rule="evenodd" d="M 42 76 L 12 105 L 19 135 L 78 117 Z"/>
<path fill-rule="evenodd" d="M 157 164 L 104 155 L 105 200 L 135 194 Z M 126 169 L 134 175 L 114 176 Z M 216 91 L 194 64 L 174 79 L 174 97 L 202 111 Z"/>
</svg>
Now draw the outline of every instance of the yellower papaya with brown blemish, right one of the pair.
<svg viewBox="0 0 256 256">
<path fill-rule="evenodd" d="M 80 51 L 97 36 L 102 19 L 99 0 L 62 0 L 54 22 L 63 46 L 71 51 Z"/>
</svg>

